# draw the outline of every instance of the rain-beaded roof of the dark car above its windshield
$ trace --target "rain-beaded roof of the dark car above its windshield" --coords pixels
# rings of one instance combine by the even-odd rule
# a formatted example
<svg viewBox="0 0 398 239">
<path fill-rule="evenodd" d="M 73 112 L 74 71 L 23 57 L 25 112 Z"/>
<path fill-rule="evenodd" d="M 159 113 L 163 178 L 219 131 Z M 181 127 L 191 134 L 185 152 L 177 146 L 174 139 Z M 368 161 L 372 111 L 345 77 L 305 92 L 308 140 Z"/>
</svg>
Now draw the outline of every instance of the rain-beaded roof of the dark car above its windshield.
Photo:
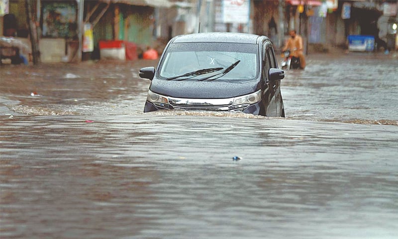
<svg viewBox="0 0 398 239">
<path fill-rule="evenodd" d="M 231 42 L 231 43 L 257 44 L 259 38 L 260 38 L 259 35 L 247 34 L 247 33 L 206 32 L 206 33 L 194 33 L 194 34 L 176 36 L 172 40 L 172 43 Z"/>
</svg>

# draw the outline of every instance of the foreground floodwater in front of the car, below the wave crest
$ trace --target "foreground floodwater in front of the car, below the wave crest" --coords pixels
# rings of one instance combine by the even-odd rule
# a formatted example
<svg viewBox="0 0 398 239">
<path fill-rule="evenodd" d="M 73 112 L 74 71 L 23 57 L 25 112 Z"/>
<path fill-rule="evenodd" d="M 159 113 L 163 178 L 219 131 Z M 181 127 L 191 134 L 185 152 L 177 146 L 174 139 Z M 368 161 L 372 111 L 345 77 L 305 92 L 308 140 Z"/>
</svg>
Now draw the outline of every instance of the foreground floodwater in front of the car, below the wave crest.
<svg viewBox="0 0 398 239">
<path fill-rule="evenodd" d="M 2 236 L 396 235 L 396 126 L 86 119 L 1 119 Z"/>
</svg>

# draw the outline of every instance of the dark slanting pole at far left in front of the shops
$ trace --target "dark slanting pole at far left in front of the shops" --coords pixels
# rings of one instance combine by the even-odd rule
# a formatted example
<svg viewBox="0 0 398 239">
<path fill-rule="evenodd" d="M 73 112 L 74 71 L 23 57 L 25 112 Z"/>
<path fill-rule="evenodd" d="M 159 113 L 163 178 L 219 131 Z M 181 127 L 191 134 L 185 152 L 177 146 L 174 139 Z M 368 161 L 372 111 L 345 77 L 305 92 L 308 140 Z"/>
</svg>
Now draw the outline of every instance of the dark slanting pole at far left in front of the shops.
<svg viewBox="0 0 398 239">
<path fill-rule="evenodd" d="M 39 50 L 39 41 L 37 38 L 37 28 L 36 28 L 36 19 L 35 15 L 32 14 L 32 1 L 25 1 L 25 9 L 26 9 L 26 22 L 29 26 L 29 35 L 30 35 L 30 43 L 32 46 L 32 57 L 33 57 L 33 65 L 36 65 L 40 62 L 40 50 Z"/>
</svg>

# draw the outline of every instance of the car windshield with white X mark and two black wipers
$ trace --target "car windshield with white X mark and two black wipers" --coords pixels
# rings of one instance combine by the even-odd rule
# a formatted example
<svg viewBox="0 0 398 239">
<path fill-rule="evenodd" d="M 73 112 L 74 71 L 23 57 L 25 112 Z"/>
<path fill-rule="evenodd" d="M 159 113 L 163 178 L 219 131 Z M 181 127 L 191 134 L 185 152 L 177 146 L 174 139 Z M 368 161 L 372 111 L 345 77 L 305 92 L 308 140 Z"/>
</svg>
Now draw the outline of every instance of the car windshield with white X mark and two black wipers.
<svg viewBox="0 0 398 239">
<path fill-rule="evenodd" d="M 258 48 L 239 43 L 172 43 L 159 72 L 164 80 L 251 80 L 258 72 Z"/>
</svg>

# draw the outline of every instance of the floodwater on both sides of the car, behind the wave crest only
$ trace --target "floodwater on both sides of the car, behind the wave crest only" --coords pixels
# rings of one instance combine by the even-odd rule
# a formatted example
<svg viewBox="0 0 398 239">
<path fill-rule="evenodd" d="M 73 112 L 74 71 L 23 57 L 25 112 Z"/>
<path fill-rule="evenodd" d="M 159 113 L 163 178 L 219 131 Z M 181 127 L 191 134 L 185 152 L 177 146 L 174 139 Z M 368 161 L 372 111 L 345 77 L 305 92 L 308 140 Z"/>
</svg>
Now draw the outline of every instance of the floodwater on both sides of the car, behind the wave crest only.
<svg viewBox="0 0 398 239">
<path fill-rule="evenodd" d="M 398 125 L 398 79 L 390 61 L 358 55 L 308 56 L 304 71 L 289 71 L 281 82 L 286 120 Z M 138 77 L 144 66 L 147 61 L 1 66 L 0 115 L 142 115 L 151 83 Z M 233 112 L 146 114 L 267 119 Z"/>
</svg>

